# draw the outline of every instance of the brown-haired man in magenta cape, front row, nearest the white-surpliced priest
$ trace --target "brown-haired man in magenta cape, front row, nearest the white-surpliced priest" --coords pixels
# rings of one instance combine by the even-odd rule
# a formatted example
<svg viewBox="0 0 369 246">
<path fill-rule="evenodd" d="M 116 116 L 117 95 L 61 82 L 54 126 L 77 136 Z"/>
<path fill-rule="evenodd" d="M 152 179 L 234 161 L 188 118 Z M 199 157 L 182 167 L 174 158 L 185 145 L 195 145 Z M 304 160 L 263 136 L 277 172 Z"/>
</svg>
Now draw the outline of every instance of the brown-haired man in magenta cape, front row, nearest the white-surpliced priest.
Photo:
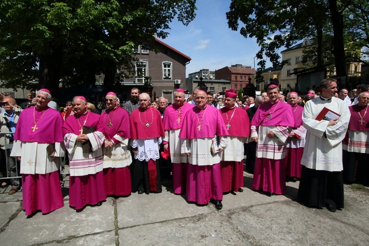
<svg viewBox="0 0 369 246">
<path fill-rule="evenodd" d="M 280 195 L 286 190 L 285 142 L 295 122 L 292 107 L 278 98 L 278 87 L 269 86 L 267 93 L 269 101 L 258 107 L 251 121 L 251 138 L 257 142 L 252 188 Z"/>
</svg>

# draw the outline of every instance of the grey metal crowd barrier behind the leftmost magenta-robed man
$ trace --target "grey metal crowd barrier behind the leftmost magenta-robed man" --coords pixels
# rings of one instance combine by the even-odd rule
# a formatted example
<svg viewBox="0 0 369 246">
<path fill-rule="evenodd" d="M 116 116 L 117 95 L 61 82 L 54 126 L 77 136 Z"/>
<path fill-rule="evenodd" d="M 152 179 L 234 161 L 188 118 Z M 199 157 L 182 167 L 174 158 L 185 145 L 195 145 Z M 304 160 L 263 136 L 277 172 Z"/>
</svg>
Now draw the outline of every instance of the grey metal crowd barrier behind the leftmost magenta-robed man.
<svg viewBox="0 0 369 246">
<path fill-rule="evenodd" d="M 14 132 L 0 132 L 0 137 L 2 137 L 2 135 L 10 135 L 10 134 L 14 134 Z M 4 137 L 5 139 L 5 151 L 1 149 L 1 167 L 3 167 L 3 164 L 4 164 L 4 159 L 5 159 L 5 163 L 6 163 L 6 177 L 0 177 L 0 181 L 2 180 L 8 180 L 8 179 L 22 179 L 22 176 L 19 175 L 19 168 L 20 168 L 20 165 L 18 164 L 18 160 L 16 157 L 10 157 L 10 152 L 11 152 L 11 149 L 13 148 L 13 143 L 11 143 L 11 141 L 9 142 L 9 139 L 7 139 L 6 137 Z M 5 154 L 5 156 L 2 156 L 3 154 Z M 65 161 L 66 161 L 66 155 L 67 155 L 67 152 L 65 151 L 65 155 L 62 157 L 61 159 L 61 165 L 60 165 L 60 171 L 61 171 L 61 174 L 62 175 L 69 175 L 69 173 L 63 173 L 64 169 L 65 169 Z M 17 176 L 16 177 L 10 177 L 10 173 L 9 173 L 9 157 L 10 158 L 14 158 L 15 159 L 15 167 L 16 167 L 16 173 L 17 173 Z M 2 182 L 1 182 L 2 183 Z"/>
</svg>

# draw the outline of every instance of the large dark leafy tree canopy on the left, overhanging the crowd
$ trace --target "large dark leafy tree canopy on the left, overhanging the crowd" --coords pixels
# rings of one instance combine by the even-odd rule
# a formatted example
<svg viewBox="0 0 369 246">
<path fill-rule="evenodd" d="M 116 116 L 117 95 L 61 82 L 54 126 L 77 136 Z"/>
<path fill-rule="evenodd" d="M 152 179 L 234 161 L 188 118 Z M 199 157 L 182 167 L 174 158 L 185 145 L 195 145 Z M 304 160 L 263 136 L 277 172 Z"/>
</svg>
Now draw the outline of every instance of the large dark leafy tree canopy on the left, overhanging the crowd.
<svg viewBox="0 0 369 246">
<path fill-rule="evenodd" d="M 153 46 L 177 17 L 188 25 L 195 0 L 2 0 L 0 78 L 5 86 L 58 93 L 60 83 L 114 84 L 120 68 L 134 69 L 133 46 Z"/>
</svg>

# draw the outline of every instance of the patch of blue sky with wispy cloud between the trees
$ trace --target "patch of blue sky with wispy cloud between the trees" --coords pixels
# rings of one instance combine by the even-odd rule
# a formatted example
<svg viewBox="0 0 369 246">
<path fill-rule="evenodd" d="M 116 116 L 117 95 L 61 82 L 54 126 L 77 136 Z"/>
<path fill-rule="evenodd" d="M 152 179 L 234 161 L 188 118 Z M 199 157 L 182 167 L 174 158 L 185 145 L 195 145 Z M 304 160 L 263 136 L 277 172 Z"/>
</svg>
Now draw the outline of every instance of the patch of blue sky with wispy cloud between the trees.
<svg viewBox="0 0 369 246">
<path fill-rule="evenodd" d="M 239 31 L 228 28 L 225 13 L 230 2 L 197 0 L 196 18 L 187 27 L 177 20 L 169 24 L 170 34 L 163 42 L 192 59 L 186 65 L 186 77 L 203 68 L 214 71 L 232 64 L 254 67 L 259 47 L 255 38 L 245 38 Z M 270 65 L 267 62 L 267 67 Z"/>
</svg>

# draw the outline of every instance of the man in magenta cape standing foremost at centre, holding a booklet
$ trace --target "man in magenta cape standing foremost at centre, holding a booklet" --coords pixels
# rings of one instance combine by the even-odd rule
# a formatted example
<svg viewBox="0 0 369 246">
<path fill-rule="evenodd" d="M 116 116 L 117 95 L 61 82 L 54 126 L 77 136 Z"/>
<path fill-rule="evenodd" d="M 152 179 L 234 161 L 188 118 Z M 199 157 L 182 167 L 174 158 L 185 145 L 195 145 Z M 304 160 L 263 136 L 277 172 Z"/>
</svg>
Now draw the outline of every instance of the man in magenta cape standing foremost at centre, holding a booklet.
<svg viewBox="0 0 369 246">
<path fill-rule="evenodd" d="M 227 147 L 228 131 L 220 112 L 206 103 L 204 91 L 196 92 L 196 107 L 189 110 L 179 137 L 184 139 L 181 153 L 188 155 L 186 197 L 189 202 L 208 204 L 213 199 L 216 209 L 222 209 L 220 175 L 221 152 Z M 218 148 L 213 139 L 219 137 Z M 217 153 L 212 154 L 212 145 Z"/>
</svg>

